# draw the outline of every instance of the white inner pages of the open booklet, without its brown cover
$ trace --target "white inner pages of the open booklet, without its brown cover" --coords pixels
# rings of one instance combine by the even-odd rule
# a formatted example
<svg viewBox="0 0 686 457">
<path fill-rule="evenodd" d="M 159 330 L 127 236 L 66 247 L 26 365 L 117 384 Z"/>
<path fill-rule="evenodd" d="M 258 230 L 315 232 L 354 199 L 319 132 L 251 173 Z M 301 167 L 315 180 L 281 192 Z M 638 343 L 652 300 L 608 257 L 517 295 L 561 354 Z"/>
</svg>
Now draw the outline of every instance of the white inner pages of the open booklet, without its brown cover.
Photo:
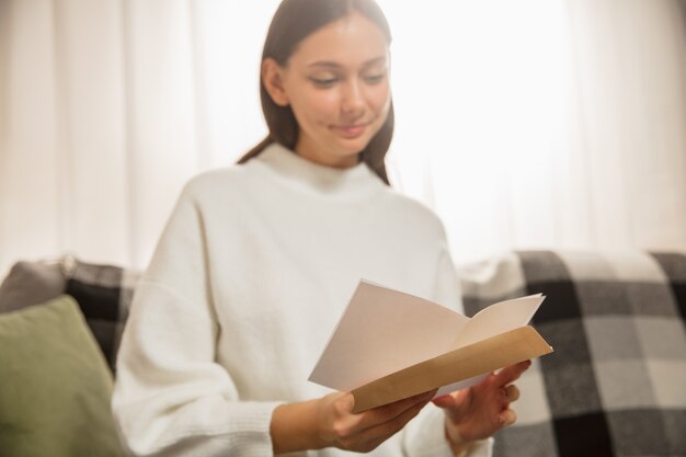
<svg viewBox="0 0 686 457">
<path fill-rule="evenodd" d="M 502 301 L 469 319 L 363 279 L 309 380 L 341 391 L 353 390 L 470 341 L 526 325 L 544 298 L 538 294 Z M 446 386 L 438 393 L 478 384 L 484 376 Z"/>
</svg>

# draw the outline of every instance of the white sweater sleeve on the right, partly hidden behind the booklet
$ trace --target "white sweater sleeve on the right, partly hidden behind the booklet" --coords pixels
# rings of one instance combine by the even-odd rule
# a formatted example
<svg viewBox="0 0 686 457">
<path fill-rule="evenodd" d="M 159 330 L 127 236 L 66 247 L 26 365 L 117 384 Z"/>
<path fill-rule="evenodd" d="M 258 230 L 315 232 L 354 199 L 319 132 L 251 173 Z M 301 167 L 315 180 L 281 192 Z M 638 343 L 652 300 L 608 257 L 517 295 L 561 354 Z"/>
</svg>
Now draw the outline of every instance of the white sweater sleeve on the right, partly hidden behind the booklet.
<svg viewBox="0 0 686 457">
<path fill-rule="evenodd" d="M 443 242 L 438 256 L 433 300 L 462 313 L 461 289 L 453 259 Z M 403 449 L 408 457 L 453 457 L 445 437 L 445 413 L 434 404 L 427 404 L 402 431 Z M 490 457 L 493 438 L 476 442 L 468 457 Z"/>
</svg>

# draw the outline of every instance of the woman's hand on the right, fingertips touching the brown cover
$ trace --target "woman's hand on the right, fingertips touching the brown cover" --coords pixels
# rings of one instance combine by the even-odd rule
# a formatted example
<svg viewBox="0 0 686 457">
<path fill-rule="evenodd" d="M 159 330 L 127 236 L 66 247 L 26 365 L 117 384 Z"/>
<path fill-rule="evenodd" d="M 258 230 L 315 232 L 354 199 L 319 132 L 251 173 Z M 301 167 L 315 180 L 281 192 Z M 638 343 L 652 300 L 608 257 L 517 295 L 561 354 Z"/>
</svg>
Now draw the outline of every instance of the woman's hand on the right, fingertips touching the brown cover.
<svg viewBox="0 0 686 457">
<path fill-rule="evenodd" d="M 511 365 L 489 375 L 477 386 L 433 400 L 445 410 L 446 435 L 454 450 L 462 444 L 487 438 L 516 421 L 510 403 L 519 398 L 519 390 L 512 382 L 530 365 L 530 361 Z"/>
</svg>

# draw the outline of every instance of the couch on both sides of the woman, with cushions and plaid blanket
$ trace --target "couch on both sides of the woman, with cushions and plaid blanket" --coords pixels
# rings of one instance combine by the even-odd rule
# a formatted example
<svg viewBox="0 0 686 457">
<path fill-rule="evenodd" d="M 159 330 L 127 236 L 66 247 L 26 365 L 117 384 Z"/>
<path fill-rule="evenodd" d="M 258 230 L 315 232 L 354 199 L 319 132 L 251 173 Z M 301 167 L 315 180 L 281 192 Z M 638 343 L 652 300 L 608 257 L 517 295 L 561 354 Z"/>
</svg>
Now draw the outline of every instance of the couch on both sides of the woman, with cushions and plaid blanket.
<svg viewBox="0 0 686 457">
<path fill-rule="evenodd" d="M 533 324 L 556 352 L 517 381 L 518 421 L 496 434 L 496 457 L 686 456 L 686 254 L 518 251 L 460 276 L 468 316 L 547 297 Z M 125 455 L 108 398 L 137 277 L 73 258 L 7 275 L 1 456 Z"/>
</svg>

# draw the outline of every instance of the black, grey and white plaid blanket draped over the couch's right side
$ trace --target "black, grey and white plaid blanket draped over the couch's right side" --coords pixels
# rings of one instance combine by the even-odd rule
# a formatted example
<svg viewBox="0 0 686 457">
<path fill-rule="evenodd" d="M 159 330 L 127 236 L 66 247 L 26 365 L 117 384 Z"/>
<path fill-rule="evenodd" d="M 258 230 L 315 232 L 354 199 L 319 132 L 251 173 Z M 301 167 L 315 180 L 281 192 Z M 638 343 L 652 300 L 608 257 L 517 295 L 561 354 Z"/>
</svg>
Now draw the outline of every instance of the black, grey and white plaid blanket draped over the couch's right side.
<svg viewBox="0 0 686 457">
<path fill-rule="evenodd" d="M 542 293 L 554 347 L 517 381 L 495 457 L 686 456 L 686 255 L 527 251 L 467 269 L 468 316 Z"/>
</svg>

